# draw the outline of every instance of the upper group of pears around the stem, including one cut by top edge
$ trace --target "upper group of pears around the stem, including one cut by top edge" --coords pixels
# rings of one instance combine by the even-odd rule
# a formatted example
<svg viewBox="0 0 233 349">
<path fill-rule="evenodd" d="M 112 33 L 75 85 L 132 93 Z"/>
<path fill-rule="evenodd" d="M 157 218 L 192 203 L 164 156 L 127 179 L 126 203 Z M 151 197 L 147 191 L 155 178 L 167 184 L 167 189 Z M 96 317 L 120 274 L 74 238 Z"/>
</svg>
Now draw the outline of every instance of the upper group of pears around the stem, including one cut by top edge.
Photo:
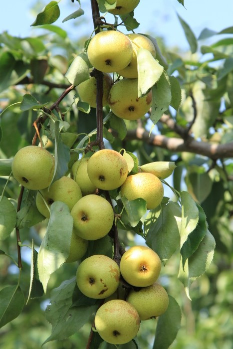
<svg viewBox="0 0 233 349">
<path fill-rule="evenodd" d="M 109 9 L 109 12 L 129 13 L 138 3 L 139 0 L 117 0 L 116 7 Z M 148 50 L 155 58 L 155 46 L 145 35 L 136 33 L 125 35 L 117 30 L 103 30 L 97 33 L 87 48 L 90 64 L 104 74 L 103 106 L 109 105 L 117 117 L 126 120 L 143 117 L 152 105 L 151 90 L 146 95 L 138 97 L 139 48 Z M 114 83 L 109 73 L 117 73 L 121 78 Z M 91 107 L 96 107 L 97 91 L 94 77 L 80 83 L 77 91 L 82 101 L 89 103 Z"/>
</svg>

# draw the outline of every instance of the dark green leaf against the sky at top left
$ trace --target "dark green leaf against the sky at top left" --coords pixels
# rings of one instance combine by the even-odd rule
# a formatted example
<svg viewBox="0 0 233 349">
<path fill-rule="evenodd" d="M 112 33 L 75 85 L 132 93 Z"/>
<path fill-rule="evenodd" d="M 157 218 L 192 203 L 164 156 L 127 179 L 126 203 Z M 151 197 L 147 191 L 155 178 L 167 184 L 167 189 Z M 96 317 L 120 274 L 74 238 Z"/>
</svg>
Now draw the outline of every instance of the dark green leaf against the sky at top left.
<svg viewBox="0 0 233 349">
<path fill-rule="evenodd" d="M 41 24 L 51 24 L 59 18 L 60 8 L 57 1 L 50 1 L 43 10 L 37 14 L 35 21 L 31 26 L 41 25 Z"/>
</svg>

